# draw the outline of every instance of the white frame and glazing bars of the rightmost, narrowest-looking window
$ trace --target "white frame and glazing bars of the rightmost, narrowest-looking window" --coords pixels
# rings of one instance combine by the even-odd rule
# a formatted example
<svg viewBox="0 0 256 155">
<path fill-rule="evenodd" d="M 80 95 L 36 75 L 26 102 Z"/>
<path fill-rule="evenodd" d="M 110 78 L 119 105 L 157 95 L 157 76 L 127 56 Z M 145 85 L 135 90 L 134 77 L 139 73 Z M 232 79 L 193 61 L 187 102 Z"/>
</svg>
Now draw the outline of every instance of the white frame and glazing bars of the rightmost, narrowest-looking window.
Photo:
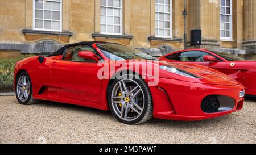
<svg viewBox="0 0 256 155">
<path fill-rule="evenodd" d="M 226 3 L 226 0 L 225 0 L 225 3 Z M 227 40 L 227 41 L 230 41 L 230 40 L 233 40 L 233 0 L 230 0 L 230 14 L 222 14 L 221 13 L 221 7 L 225 7 L 225 9 L 227 8 L 227 6 L 222 6 L 221 4 L 221 0 L 220 0 L 220 39 L 221 40 Z M 224 18 L 226 18 L 225 16 L 230 16 L 230 19 L 229 19 L 229 30 L 226 29 L 226 20 L 224 22 L 221 22 L 221 15 L 224 15 Z M 221 23 L 225 23 L 224 24 L 224 30 L 221 29 Z M 221 36 L 221 31 L 224 31 L 225 35 L 226 35 L 226 31 L 229 31 L 230 34 L 229 34 L 229 37 L 222 37 Z"/>
</svg>

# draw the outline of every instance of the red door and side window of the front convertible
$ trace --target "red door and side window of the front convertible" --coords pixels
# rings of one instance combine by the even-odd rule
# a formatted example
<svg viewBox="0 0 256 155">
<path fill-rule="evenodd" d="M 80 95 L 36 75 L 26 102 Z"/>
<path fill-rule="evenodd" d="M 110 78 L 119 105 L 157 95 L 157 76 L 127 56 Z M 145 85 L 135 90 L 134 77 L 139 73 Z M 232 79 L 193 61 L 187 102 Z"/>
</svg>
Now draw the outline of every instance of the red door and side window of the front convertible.
<svg viewBox="0 0 256 155">
<path fill-rule="evenodd" d="M 101 81 L 97 77 L 100 67 L 93 60 L 79 57 L 80 51 L 92 51 L 97 54 L 88 45 L 66 49 L 63 57 L 55 60 L 51 67 L 52 81 L 61 98 L 100 103 Z"/>
</svg>

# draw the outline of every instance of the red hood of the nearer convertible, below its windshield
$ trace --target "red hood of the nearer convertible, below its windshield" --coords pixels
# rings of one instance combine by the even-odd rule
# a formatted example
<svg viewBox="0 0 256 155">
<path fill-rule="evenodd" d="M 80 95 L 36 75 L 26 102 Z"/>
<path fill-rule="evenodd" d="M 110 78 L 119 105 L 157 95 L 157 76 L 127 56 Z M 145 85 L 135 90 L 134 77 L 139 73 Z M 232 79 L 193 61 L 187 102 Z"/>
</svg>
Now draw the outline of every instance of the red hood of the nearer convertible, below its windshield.
<svg viewBox="0 0 256 155">
<path fill-rule="evenodd" d="M 155 68 L 159 69 L 159 74 L 154 74 L 152 76 L 154 77 L 160 77 L 160 78 L 169 78 L 169 79 L 177 79 L 180 81 L 187 81 L 187 82 L 195 82 L 195 83 L 207 83 L 207 84 L 213 84 L 213 85 L 238 85 L 239 83 L 235 81 L 234 79 L 230 78 L 229 76 L 226 76 L 225 74 L 222 74 L 216 70 L 210 69 L 205 66 L 196 65 L 196 66 L 190 66 L 185 64 L 177 64 L 172 62 L 166 62 L 166 61 L 141 61 L 141 60 L 132 60 L 132 61 L 119 61 L 120 64 L 127 63 L 127 66 L 134 66 L 140 64 L 143 65 L 149 65 L 154 66 Z M 181 76 L 180 74 L 168 72 L 167 70 L 160 69 L 160 66 L 173 66 L 177 69 L 184 70 L 185 72 L 191 73 L 199 78 L 191 78 L 191 77 L 185 77 Z M 148 75 L 148 73 L 143 73 L 142 69 L 133 69 L 129 68 L 129 70 L 133 70 L 137 73 L 140 73 L 142 76 L 151 76 Z"/>
</svg>

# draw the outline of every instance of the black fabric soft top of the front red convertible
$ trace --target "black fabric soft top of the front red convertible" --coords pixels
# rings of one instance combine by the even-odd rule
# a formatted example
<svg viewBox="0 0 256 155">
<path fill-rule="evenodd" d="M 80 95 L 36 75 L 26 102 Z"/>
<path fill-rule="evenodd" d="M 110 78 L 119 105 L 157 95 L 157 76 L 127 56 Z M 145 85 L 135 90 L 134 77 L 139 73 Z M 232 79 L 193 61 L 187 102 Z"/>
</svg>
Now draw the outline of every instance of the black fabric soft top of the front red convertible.
<svg viewBox="0 0 256 155">
<path fill-rule="evenodd" d="M 77 45 L 89 45 L 92 46 L 92 44 L 94 43 L 108 43 L 108 42 L 100 42 L 100 41 L 90 41 L 90 42 L 80 42 L 80 43 L 75 43 L 75 44 L 68 44 L 65 45 L 64 47 L 61 47 L 59 50 L 57 50 L 56 52 L 52 53 L 51 55 L 49 55 L 48 57 L 53 57 L 53 56 L 61 56 L 63 55 L 63 53 L 65 52 L 65 50 L 69 47 L 73 47 L 73 46 L 77 46 Z"/>
</svg>

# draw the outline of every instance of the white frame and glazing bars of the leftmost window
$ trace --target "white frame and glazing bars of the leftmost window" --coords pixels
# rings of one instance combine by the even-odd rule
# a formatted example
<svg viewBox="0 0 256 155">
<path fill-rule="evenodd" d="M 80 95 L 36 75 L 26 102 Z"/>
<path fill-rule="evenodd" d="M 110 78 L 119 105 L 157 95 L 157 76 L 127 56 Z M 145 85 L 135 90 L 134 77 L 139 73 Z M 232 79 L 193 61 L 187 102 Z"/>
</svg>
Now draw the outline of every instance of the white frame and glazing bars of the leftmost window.
<svg viewBox="0 0 256 155">
<path fill-rule="evenodd" d="M 35 18 L 35 1 L 36 0 L 33 0 L 33 30 L 40 30 L 40 31 L 53 31 L 53 32 L 62 32 L 62 14 L 63 14 L 63 12 L 62 12 L 62 1 L 63 0 L 60 0 L 60 1 L 55 1 L 55 0 L 49 0 L 49 1 L 51 1 L 51 2 L 59 2 L 60 3 L 60 21 L 59 20 L 54 20 L 53 18 L 51 18 L 51 19 L 46 19 L 46 20 L 48 20 L 48 21 L 51 21 L 51 23 L 53 23 L 54 21 L 57 21 L 57 22 L 60 22 L 60 30 L 55 30 L 55 29 L 47 29 L 47 28 L 36 28 L 35 27 L 35 20 L 36 20 L 36 18 Z M 39 0 L 39 1 L 46 1 L 46 0 Z M 53 5 L 52 5 L 52 7 L 53 7 Z M 43 5 L 43 9 L 36 9 L 36 10 L 43 10 L 43 27 L 44 27 L 44 5 Z M 53 12 L 53 11 L 58 11 L 59 12 L 59 10 L 53 10 L 53 8 L 51 9 L 51 10 L 47 10 L 47 11 L 51 11 L 51 12 Z M 53 14 L 52 14 L 52 16 L 53 16 Z M 39 19 L 39 20 L 42 20 L 42 19 Z M 52 25 L 51 25 L 51 27 L 52 27 Z"/>
</svg>

